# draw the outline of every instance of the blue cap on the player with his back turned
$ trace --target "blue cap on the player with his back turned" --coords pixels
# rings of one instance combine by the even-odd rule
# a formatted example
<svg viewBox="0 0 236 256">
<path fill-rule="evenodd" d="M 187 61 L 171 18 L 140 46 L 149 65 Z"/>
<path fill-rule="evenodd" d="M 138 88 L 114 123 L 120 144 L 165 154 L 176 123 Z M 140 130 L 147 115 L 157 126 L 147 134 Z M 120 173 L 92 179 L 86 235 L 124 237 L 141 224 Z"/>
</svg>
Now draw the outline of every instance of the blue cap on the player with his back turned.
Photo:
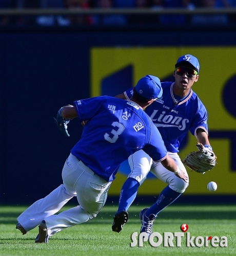
<svg viewBox="0 0 236 256">
<path fill-rule="evenodd" d="M 147 75 L 137 81 L 136 92 L 145 99 L 151 100 L 162 97 L 161 81 L 158 77 Z"/>
</svg>

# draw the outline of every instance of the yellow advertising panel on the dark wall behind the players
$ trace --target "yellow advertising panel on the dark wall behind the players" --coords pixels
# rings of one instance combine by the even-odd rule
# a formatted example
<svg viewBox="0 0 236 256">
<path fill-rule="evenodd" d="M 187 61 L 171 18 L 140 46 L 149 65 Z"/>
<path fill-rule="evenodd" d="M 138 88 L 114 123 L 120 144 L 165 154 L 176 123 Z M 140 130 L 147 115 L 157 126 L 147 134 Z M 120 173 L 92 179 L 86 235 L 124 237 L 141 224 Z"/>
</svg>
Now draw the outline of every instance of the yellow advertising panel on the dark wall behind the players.
<svg viewBox="0 0 236 256">
<path fill-rule="evenodd" d="M 96 47 L 90 51 L 91 97 L 102 95 L 104 79 L 127 66 L 132 66 L 132 85 L 145 75 L 168 77 L 174 70 L 176 60 L 184 54 L 192 54 L 200 62 L 199 81 L 192 89 L 207 108 L 210 143 L 217 155 L 217 166 L 206 174 L 189 173 L 186 195 L 235 195 L 236 194 L 236 47 Z M 112 84 L 111 93 L 112 93 Z M 223 97 L 223 94 L 228 95 Z M 123 93 L 121 91 L 120 93 Z M 211 134 L 213 135 L 211 137 Z M 235 135 L 235 136 L 234 136 Z M 233 144 L 235 142 L 235 144 Z M 186 146 L 179 153 L 183 159 L 195 151 L 196 138 L 190 133 Z M 233 149 L 235 147 L 235 150 Z M 109 195 L 119 195 L 127 175 L 123 165 L 109 190 Z M 234 170 L 235 169 L 235 170 Z M 127 172 L 127 170 L 126 170 Z M 218 189 L 207 190 L 209 181 L 215 181 Z M 139 188 L 138 195 L 158 195 L 166 186 L 160 180 L 149 177 Z"/>
</svg>

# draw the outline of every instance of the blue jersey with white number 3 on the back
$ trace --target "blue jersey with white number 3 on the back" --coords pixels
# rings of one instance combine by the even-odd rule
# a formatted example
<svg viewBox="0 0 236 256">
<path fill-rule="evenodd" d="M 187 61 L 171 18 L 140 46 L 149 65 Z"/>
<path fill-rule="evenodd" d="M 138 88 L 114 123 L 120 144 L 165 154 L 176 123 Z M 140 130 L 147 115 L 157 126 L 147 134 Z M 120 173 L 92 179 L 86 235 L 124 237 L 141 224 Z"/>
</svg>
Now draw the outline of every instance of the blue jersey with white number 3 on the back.
<svg viewBox="0 0 236 256">
<path fill-rule="evenodd" d="M 143 149 L 154 161 L 167 157 L 162 137 L 136 103 L 109 96 L 74 101 L 80 121 L 88 120 L 72 148 L 94 173 L 111 181 L 120 164 Z"/>
</svg>

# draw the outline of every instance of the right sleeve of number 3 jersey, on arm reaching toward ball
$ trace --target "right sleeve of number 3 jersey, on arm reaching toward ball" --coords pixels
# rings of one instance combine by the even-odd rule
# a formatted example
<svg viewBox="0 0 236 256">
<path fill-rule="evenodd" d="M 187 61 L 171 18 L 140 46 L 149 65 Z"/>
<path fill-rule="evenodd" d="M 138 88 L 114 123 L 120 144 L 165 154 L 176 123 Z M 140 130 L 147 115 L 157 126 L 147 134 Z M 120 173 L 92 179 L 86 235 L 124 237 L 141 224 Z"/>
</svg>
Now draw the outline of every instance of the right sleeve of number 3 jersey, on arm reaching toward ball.
<svg viewBox="0 0 236 256">
<path fill-rule="evenodd" d="M 159 162 L 164 160 L 168 156 L 168 153 L 162 136 L 153 123 L 151 124 L 151 128 L 149 143 L 145 145 L 143 151 L 147 153 L 154 162 Z"/>
</svg>

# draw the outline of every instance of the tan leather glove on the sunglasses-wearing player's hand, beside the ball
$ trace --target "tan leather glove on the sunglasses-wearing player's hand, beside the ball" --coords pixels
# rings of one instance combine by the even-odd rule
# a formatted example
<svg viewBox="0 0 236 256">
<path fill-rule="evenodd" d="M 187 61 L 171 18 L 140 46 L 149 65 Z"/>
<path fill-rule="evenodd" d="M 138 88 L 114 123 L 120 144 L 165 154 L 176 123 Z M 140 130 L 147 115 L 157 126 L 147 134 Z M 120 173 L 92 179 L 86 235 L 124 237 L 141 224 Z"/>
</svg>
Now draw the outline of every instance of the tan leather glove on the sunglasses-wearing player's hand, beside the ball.
<svg viewBox="0 0 236 256">
<path fill-rule="evenodd" d="M 198 142 L 196 147 L 199 151 L 190 152 L 183 163 L 191 170 L 204 174 L 215 166 L 217 156 L 209 148 L 204 147 L 202 143 Z"/>
</svg>

